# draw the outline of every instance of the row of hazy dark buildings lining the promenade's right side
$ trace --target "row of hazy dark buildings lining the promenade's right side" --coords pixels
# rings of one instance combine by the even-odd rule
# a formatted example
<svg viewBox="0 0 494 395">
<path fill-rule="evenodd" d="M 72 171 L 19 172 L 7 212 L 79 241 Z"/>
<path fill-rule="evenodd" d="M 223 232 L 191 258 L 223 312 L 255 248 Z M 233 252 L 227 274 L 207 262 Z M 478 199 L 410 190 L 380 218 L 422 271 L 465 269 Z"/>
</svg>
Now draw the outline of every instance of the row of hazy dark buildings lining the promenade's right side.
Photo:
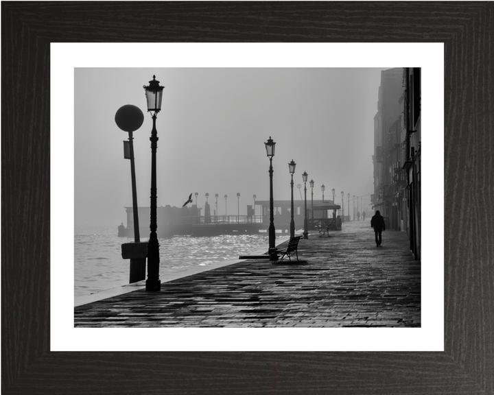
<svg viewBox="0 0 494 395">
<path fill-rule="evenodd" d="M 381 72 L 374 117 L 373 208 L 389 229 L 408 233 L 421 258 L 421 69 Z"/>
</svg>

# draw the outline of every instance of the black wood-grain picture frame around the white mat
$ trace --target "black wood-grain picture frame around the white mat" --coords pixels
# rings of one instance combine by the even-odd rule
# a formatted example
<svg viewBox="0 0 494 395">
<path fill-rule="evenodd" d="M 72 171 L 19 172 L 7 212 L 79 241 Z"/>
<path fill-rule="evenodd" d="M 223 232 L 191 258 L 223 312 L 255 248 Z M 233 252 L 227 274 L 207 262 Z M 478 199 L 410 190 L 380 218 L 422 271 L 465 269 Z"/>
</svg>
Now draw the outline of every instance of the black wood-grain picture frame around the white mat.
<svg viewBox="0 0 494 395">
<path fill-rule="evenodd" d="M 1 8 L 3 394 L 494 393 L 494 3 Z M 445 351 L 51 352 L 49 71 L 57 42 L 444 43 Z M 423 224 L 442 226 L 438 218 Z"/>
</svg>

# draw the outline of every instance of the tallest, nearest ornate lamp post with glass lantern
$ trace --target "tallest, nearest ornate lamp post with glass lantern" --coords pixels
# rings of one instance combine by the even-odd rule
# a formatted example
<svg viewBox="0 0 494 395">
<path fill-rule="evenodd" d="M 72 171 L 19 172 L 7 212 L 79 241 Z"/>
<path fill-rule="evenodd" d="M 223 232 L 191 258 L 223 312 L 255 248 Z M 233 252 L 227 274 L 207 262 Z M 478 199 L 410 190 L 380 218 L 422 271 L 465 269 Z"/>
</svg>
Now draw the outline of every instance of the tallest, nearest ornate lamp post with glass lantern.
<svg viewBox="0 0 494 395">
<path fill-rule="evenodd" d="M 150 240 L 148 242 L 148 279 L 146 280 L 146 291 L 159 291 L 161 281 L 159 279 L 159 243 L 156 230 L 158 229 L 156 202 L 158 197 L 156 187 L 156 149 L 158 148 L 158 132 L 156 131 L 156 115 L 161 110 L 161 100 L 163 99 L 163 88 L 156 76 L 153 75 L 152 81 L 148 86 L 143 86 L 145 90 L 146 101 L 148 101 L 148 112 L 152 113 L 152 130 L 151 130 L 151 222 L 150 222 Z"/>
</svg>

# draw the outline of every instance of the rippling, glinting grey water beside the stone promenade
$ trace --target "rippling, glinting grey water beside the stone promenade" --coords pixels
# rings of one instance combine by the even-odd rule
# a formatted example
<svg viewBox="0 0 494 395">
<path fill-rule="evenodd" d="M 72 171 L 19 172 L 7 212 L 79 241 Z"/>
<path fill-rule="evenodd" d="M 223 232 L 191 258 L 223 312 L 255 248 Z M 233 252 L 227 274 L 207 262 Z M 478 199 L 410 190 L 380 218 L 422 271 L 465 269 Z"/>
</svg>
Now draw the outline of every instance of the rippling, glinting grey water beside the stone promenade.
<svg viewBox="0 0 494 395">
<path fill-rule="evenodd" d="M 141 235 L 146 241 L 148 235 Z M 128 284 L 129 260 L 121 257 L 121 244 L 134 238 L 118 237 L 117 226 L 75 228 L 75 298 Z M 268 250 L 268 236 L 221 235 L 211 237 L 176 236 L 158 239 L 160 277 L 211 263 L 238 261 L 239 255 Z"/>
</svg>

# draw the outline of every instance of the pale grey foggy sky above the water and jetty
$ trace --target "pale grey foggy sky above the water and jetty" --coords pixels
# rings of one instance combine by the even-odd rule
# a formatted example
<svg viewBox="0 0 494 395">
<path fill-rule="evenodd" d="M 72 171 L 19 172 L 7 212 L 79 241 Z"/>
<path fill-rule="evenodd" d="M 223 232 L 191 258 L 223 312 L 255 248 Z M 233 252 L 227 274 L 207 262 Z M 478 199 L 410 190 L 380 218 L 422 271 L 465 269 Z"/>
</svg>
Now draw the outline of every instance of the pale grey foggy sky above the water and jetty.
<svg viewBox="0 0 494 395">
<path fill-rule="evenodd" d="M 240 214 L 269 198 L 269 160 L 264 143 L 276 144 L 274 199 L 290 199 L 288 163 L 296 162 L 294 184 L 307 171 L 314 180 L 314 202 L 341 202 L 341 191 L 373 193 L 374 116 L 383 69 L 75 69 L 75 225 L 126 224 L 132 206 L 130 160 L 122 141 L 128 133 L 115 123 L 125 104 L 141 108 L 143 125 L 134 132 L 139 206 L 150 205 L 150 133 L 143 85 L 160 81 L 163 104 L 158 113 L 158 206 L 182 206 L 199 193 L 198 206 L 215 193 L 218 211 Z M 303 194 L 303 187 L 302 187 Z M 300 193 L 294 187 L 294 199 Z M 193 197 L 194 203 L 196 202 Z M 307 201 L 310 187 L 307 182 Z M 258 208 L 257 208 L 258 210 Z M 259 211 L 257 211 L 259 213 Z M 348 213 L 348 211 L 346 211 Z"/>
</svg>

